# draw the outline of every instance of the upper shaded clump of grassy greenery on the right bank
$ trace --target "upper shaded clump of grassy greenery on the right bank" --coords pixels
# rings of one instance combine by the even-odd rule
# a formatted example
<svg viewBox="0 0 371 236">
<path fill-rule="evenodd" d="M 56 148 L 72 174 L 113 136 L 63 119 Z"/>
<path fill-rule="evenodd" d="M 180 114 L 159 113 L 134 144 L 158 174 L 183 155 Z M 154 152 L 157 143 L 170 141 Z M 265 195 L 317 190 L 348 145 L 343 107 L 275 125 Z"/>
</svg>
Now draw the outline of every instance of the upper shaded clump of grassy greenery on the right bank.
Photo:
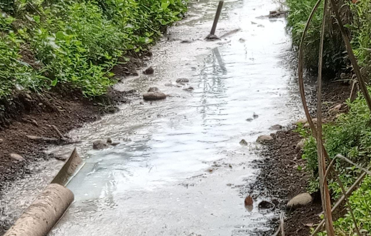
<svg viewBox="0 0 371 236">
<path fill-rule="evenodd" d="M 287 25 L 291 30 L 293 44 L 298 46 L 306 24 L 317 0 L 286 0 L 289 7 Z M 344 3 L 342 9 L 343 23 L 348 27 L 352 46 L 361 66 L 367 66 L 371 60 L 371 0 L 362 0 L 357 3 L 336 1 Z M 311 21 L 305 38 L 304 59 L 306 66 L 317 69 L 319 34 L 322 23 L 323 4 L 320 4 Z M 338 30 L 336 20 L 330 17 L 326 25 L 324 41 L 324 69 L 337 72 L 339 69 L 347 69 L 349 66 L 347 54 L 342 42 L 342 36 Z M 369 67 L 369 66 L 368 66 Z M 368 68 L 370 73 L 370 68 Z"/>
</svg>

